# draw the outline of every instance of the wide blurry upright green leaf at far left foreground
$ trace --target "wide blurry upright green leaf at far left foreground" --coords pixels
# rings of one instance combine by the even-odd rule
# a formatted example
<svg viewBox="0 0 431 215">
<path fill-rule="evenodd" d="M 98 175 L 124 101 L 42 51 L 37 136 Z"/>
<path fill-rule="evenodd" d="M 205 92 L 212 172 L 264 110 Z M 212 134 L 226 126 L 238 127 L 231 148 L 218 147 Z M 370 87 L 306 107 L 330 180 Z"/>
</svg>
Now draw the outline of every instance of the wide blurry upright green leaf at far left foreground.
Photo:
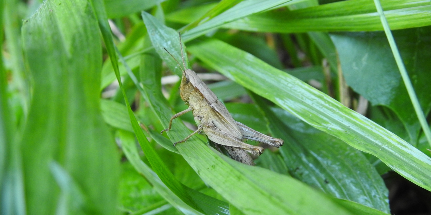
<svg viewBox="0 0 431 215">
<path fill-rule="evenodd" d="M 99 109 L 102 55 L 91 6 L 45 1 L 22 32 L 34 80 L 21 143 L 27 214 L 116 214 L 119 157 Z M 59 189 L 49 169 L 54 161 L 83 201 Z"/>
</svg>

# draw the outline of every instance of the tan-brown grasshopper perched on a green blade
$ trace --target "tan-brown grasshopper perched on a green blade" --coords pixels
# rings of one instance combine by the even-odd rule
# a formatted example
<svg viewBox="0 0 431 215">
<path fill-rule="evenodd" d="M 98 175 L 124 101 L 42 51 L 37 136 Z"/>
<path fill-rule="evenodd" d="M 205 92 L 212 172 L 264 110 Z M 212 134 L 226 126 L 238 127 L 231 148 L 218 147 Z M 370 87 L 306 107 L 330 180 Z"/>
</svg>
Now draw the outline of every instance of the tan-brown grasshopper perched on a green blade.
<svg viewBox="0 0 431 215">
<path fill-rule="evenodd" d="M 198 127 L 197 130 L 192 132 L 183 140 L 174 143 L 174 146 L 178 143 L 187 141 L 187 139 L 191 136 L 203 131 L 209 140 L 217 144 L 227 146 L 226 149 L 228 150 L 228 153 L 231 155 L 233 154 L 234 157 L 237 157 L 234 158 L 231 156 L 234 158 L 234 160 L 241 160 L 242 158 L 242 160 L 245 161 L 241 162 L 250 164 L 251 157 L 248 156 L 248 154 L 244 151 L 258 156 L 262 154 L 263 147 L 246 144 L 242 142 L 242 139 L 245 138 L 259 141 L 274 147 L 280 147 L 283 145 L 283 140 L 272 138 L 257 132 L 256 130 L 251 129 L 250 127 L 237 122 L 232 118 L 225 105 L 219 101 L 217 96 L 208 88 L 208 86 L 206 86 L 206 84 L 200 80 L 197 74 L 193 70 L 186 68 L 184 63 L 181 35 L 179 35 L 179 37 L 181 58 L 184 66 L 181 77 L 180 95 L 181 99 L 185 101 L 189 107 L 186 110 L 173 115 L 169 121 L 168 128 L 160 133 L 162 134 L 163 132 L 169 131 L 171 129 L 172 120 L 192 111 L 194 121 Z M 175 59 L 178 66 L 181 68 L 181 65 L 177 59 L 168 50 L 165 49 L 165 51 Z M 251 161 L 251 163 L 253 163 L 253 161 Z"/>
</svg>

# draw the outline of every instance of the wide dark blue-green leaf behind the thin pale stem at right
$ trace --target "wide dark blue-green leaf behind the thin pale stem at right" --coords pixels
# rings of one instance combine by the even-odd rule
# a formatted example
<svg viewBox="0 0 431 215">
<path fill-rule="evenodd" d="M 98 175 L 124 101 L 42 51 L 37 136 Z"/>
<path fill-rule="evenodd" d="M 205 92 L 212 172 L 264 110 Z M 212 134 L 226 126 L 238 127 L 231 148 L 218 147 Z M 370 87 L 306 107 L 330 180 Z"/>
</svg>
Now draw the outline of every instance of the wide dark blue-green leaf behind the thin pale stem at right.
<svg viewBox="0 0 431 215">
<path fill-rule="evenodd" d="M 431 27 L 393 32 L 425 115 L 431 109 Z M 347 84 L 373 105 L 392 109 L 408 132 L 410 144 L 418 144 L 421 125 L 404 86 L 383 32 L 331 34 L 339 53 Z M 351 52 L 350 50 L 355 50 Z"/>
</svg>

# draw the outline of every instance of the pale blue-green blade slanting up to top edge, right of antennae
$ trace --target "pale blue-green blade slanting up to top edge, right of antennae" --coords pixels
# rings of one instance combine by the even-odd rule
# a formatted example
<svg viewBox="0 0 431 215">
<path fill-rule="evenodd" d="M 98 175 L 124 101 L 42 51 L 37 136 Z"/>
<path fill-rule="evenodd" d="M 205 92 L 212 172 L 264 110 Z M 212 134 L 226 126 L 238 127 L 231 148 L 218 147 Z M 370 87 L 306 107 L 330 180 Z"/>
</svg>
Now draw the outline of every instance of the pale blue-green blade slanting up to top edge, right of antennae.
<svg viewBox="0 0 431 215">
<path fill-rule="evenodd" d="M 185 32 L 183 39 L 184 41 L 192 40 L 200 35 L 206 34 L 212 29 L 219 28 L 225 23 L 274 8 L 288 1 L 290 0 L 244 0 L 202 25 L 198 25 L 196 28 Z M 155 48 L 157 49 L 157 47 Z"/>
</svg>

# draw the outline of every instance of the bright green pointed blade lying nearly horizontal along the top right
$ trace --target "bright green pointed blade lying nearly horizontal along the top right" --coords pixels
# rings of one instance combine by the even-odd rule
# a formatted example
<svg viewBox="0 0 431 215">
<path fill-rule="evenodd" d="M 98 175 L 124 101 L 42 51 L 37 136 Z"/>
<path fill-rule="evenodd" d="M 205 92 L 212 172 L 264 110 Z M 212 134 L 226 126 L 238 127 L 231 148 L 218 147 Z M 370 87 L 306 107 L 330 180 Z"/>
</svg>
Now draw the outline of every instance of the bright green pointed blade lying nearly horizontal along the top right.
<svg viewBox="0 0 431 215">
<path fill-rule="evenodd" d="M 386 6 L 385 16 L 391 29 L 431 25 L 429 1 L 401 0 L 392 3 L 388 0 L 382 3 Z M 356 6 L 352 7 L 353 4 Z M 366 0 L 340 1 L 292 12 L 270 11 L 230 22 L 222 28 L 278 33 L 383 30 L 374 3 Z"/>
</svg>

